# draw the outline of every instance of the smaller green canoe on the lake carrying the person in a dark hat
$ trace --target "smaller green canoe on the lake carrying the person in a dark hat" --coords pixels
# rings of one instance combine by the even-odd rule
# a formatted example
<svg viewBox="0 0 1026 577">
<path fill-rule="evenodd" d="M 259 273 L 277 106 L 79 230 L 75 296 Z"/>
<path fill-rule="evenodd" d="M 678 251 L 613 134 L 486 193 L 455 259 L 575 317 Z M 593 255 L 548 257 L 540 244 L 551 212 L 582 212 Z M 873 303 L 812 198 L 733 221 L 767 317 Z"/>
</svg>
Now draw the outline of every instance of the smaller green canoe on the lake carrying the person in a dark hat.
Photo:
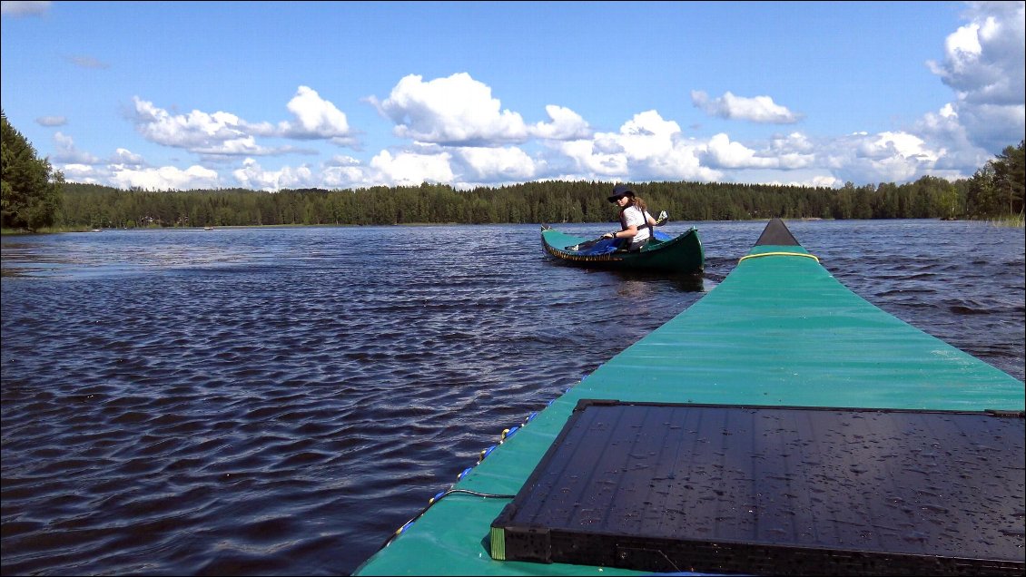
<svg viewBox="0 0 1026 577">
<path fill-rule="evenodd" d="M 546 254 L 561 263 L 587 269 L 622 271 L 661 271 L 666 273 L 700 274 L 705 254 L 698 231 L 694 228 L 669 240 L 653 240 L 637 252 L 616 251 L 593 254 L 568 247 L 587 242 L 582 239 L 543 228 L 542 247 Z"/>
</svg>

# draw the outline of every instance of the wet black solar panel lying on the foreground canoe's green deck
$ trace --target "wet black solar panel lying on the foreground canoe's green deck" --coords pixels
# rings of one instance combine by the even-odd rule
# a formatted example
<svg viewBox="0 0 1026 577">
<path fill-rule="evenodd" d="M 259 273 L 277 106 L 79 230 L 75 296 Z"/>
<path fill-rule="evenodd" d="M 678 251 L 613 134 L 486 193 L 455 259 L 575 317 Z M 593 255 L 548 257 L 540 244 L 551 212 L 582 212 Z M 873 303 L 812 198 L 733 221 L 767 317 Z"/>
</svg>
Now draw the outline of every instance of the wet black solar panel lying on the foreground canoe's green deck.
<svg viewBox="0 0 1026 577">
<path fill-rule="evenodd" d="M 642 571 L 1022 575 L 1023 413 L 581 401 L 492 557 Z"/>
</svg>

